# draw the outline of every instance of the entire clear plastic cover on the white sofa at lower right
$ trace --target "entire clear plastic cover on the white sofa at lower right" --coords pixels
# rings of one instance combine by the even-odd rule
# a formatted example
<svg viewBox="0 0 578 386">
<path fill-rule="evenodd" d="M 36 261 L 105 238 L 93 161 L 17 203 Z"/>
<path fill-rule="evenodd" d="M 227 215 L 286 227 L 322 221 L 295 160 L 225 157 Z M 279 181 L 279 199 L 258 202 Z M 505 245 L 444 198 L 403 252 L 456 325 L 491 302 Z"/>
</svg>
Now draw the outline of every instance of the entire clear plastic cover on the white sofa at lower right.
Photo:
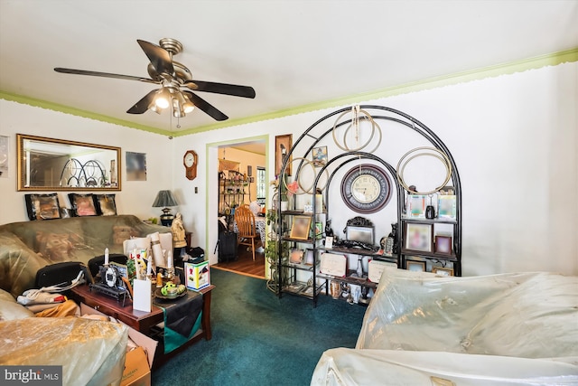
<svg viewBox="0 0 578 386">
<path fill-rule="evenodd" d="M 386 269 L 356 348 L 323 353 L 318 384 L 578 384 L 578 277 Z"/>
</svg>

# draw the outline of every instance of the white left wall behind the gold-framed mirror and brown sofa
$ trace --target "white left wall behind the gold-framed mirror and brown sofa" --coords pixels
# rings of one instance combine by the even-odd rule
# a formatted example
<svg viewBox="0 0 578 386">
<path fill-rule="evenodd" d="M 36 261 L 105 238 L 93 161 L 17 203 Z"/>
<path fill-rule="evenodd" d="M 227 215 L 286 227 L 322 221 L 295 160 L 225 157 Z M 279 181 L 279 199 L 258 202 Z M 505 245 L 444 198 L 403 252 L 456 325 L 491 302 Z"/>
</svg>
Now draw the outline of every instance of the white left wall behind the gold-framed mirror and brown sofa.
<svg viewBox="0 0 578 386">
<path fill-rule="evenodd" d="M 0 136 L 10 138 L 10 170 L 8 178 L 3 178 L 4 175 L 0 178 L 0 224 L 28 221 L 24 204 L 24 194 L 28 192 L 16 192 L 17 133 L 121 147 L 122 191 L 112 192 L 116 194 L 117 212 L 135 214 L 141 219 L 160 216 L 161 210 L 152 205 L 159 190 L 172 188 L 172 140 L 4 99 L 0 99 L 0 111 Z M 146 181 L 126 181 L 127 151 L 146 154 Z M 59 202 L 70 208 L 67 193 L 59 193 Z"/>
</svg>

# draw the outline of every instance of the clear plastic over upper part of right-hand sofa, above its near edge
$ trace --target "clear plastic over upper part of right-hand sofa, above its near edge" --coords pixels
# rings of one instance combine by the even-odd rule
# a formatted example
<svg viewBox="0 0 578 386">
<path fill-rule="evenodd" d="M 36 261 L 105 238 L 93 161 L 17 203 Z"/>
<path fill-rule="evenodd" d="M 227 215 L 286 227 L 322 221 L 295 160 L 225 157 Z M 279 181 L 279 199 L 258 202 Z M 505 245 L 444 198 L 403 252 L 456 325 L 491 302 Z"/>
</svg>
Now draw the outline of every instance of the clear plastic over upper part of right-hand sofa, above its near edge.
<svg viewBox="0 0 578 386">
<path fill-rule="evenodd" d="M 578 356 L 578 277 L 541 272 L 440 278 L 386 270 L 356 348 Z"/>
</svg>

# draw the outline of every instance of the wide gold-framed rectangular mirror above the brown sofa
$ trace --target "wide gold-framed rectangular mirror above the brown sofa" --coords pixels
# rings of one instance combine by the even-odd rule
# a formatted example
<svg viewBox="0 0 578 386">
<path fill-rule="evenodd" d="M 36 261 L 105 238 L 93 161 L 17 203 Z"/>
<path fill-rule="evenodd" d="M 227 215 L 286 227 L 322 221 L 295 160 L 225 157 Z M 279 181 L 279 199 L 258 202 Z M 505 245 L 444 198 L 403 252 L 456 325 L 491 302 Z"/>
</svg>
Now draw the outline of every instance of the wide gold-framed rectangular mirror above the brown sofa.
<svg viewBox="0 0 578 386">
<path fill-rule="evenodd" d="M 120 191 L 120 147 L 17 134 L 18 191 Z"/>
</svg>

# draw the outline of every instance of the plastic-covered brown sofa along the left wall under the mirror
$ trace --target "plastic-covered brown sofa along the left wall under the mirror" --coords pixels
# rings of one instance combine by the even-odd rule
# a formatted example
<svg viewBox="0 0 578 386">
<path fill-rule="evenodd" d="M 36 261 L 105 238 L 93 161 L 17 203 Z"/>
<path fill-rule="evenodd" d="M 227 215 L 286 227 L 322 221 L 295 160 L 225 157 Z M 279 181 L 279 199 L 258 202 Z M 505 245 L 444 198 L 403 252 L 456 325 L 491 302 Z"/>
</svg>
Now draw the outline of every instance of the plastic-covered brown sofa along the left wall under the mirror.
<svg viewBox="0 0 578 386">
<path fill-rule="evenodd" d="M 80 261 L 120 253 L 123 241 L 167 227 L 146 224 L 132 215 L 86 216 L 12 222 L 0 225 L 0 288 L 14 297 L 34 287 L 38 269 L 62 261 Z"/>
</svg>

